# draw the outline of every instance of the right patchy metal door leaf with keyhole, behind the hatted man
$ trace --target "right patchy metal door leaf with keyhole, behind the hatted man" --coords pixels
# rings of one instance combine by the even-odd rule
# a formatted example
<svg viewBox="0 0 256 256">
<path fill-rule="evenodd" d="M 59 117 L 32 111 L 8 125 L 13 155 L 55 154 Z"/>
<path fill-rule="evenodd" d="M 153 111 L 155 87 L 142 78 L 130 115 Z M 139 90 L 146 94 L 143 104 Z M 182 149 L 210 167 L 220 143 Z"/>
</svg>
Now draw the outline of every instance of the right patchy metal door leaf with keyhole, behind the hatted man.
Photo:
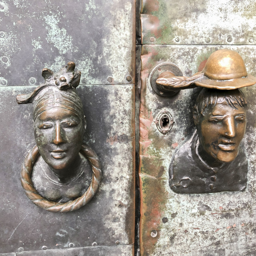
<svg viewBox="0 0 256 256">
<path fill-rule="evenodd" d="M 212 52 L 222 48 L 238 52 L 248 73 L 255 76 L 254 7 L 250 0 L 142 1 L 141 255 L 256 255 L 255 86 L 242 89 L 248 99 L 242 141 L 249 160 L 247 188 L 243 192 L 178 194 L 169 185 L 169 166 L 195 130 L 192 110 L 200 88 L 166 97 L 152 85 L 154 76 L 166 71 L 166 63 L 180 69 L 176 76 L 190 77 L 204 68 Z M 172 121 L 167 132 L 157 126 L 161 113 Z"/>
</svg>

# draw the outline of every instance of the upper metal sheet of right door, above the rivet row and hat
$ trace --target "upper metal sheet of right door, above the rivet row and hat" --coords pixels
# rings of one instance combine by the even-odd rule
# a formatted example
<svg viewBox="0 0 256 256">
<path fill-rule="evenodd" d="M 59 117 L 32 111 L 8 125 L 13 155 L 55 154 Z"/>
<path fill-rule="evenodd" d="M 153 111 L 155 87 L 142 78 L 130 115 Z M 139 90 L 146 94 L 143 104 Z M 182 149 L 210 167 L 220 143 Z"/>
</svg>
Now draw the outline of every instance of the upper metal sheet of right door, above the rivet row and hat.
<svg viewBox="0 0 256 256">
<path fill-rule="evenodd" d="M 142 0 L 142 44 L 255 44 L 255 14 L 254 0 Z"/>
</svg>

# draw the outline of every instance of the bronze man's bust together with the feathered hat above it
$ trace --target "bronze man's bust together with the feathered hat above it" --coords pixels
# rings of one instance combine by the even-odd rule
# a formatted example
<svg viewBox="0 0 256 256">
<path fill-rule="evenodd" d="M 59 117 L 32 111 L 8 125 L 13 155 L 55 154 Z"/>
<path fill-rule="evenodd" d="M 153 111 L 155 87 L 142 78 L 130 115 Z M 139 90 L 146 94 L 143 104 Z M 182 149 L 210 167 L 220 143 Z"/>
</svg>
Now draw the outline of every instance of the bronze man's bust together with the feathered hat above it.
<svg viewBox="0 0 256 256">
<path fill-rule="evenodd" d="M 203 87 L 193 109 L 196 131 L 172 156 L 171 189 L 176 193 L 245 190 L 248 161 L 240 143 L 247 103 L 239 88 L 255 84 L 256 78 L 247 74 L 240 54 L 217 50 L 192 78 L 159 78 L 156 82 L 175 89 Z"/>
</svg>

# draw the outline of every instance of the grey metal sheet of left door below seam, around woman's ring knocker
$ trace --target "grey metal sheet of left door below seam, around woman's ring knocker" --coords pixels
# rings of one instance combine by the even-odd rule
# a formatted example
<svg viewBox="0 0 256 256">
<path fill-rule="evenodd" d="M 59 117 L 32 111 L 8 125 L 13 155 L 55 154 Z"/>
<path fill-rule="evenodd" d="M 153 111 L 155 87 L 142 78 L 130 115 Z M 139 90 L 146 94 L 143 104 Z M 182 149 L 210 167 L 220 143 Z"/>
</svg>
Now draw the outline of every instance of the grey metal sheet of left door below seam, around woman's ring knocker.
<svg viewBox="0 0 256 256">
<path fill-rule="evenodd" d="M 18 105 L 16 95 L 34 88 L 0 87 L 0 253 L 41 250 L 42 246 L 63 249 L 70 243 L 74 248 L 94 242 L 98 246 L 116 246 L 116 241 L 133 244 L 134 85 L 78 87 L 87 120 L 84 141 L 99 156 L 103 178 L 96 196 L 68 213 L 35 206 L 20 184 L 22 162 L 35 141 L 32 104 Z"/>
</svg>

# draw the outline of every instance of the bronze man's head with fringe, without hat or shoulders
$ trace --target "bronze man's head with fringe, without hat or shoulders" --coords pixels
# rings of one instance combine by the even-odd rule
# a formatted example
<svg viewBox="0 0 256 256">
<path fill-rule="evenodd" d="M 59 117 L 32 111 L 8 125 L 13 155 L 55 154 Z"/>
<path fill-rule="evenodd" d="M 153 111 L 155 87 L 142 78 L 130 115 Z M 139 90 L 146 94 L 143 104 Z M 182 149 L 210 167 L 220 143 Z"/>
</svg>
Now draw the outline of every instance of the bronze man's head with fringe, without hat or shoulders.
<svg viewBox="0 0 256 256">
<path fill-rule="evenodd" d="M 232 162 L 246 128 L 246 99 L 239 90 L 203 88 L 193 109 L 198 152 L 212 167 Z"/>
</svg>

